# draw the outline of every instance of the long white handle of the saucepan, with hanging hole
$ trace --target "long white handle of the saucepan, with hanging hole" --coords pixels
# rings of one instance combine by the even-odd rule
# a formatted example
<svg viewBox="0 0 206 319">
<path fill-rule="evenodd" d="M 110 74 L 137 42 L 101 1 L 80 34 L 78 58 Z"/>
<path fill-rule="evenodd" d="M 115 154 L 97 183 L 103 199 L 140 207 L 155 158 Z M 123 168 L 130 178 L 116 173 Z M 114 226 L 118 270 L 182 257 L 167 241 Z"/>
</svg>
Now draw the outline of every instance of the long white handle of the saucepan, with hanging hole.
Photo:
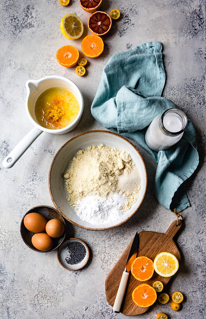
<svg viewBox="0 0 206 319">
<path fill-rule="evenodd" d="M 42 130 L 34 127 L 14 149 L 7 155 L 3 160 L 2 164 L 5 168 L 11 168 L 18 161 L 18 159 L 26 152 L 30 145 L 35 141 L 35 139 L 42 134 Z"/>
</svg>

